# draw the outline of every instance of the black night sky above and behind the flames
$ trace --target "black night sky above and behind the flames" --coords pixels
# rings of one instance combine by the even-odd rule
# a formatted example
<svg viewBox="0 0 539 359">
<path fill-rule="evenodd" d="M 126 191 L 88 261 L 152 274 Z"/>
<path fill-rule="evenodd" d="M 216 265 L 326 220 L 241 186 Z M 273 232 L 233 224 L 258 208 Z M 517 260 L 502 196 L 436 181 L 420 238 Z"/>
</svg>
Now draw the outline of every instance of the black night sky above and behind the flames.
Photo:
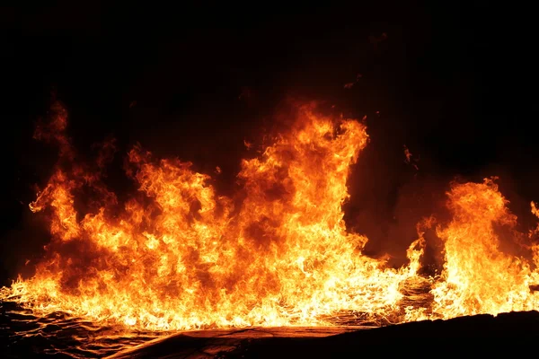
<svg viewBox="0 0 539 359">
<path fill-rule="evenodd" d="M 120 155 L 140 141 L 199 171 L 220 165 L 223 190 L 234 182 L 243 139 L 267 126 L 287 95 L 367 115 L 372 143 L 351 180 L 349 216 L 358 227 L 387 223 L 402 212 L 395 208 L 411 207 L 399 202 L 403 192 L 424 197 L 429 183 L 455 175 L 500 175 L 516 204 L 539 200 L 529 10 L 487 1 L 356 3 L 0 8 L 0 278 L 13 276 L 48 241 L 27 205 L 56 161 L 53 148 L 31 138 L 51 92 L 66 104 L 80 151 L 105 136 L 118 139 Z M 383 33 L 386 39 L 373 40 Z M 358 83 L 344 89 L 356 74 Z M 245 88 L 252 96 L 238 99 Z M 403 144 L 420 155 L 419 176 L 403 163 Z M 388 228 L 367 232 L 383 238 Z"/>
</svg>

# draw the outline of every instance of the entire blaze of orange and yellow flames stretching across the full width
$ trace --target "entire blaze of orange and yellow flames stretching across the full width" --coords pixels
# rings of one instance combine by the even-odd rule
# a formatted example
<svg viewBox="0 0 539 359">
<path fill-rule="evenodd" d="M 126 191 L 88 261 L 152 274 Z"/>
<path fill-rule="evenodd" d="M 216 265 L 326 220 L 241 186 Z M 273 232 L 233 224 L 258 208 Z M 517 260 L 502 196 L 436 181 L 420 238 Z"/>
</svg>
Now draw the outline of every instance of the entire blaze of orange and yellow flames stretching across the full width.
<svg viewBox="0 0 539 359">
<path fill-rule="evenodd" d="M 539 260 L 500 250 L 498 227 L 515 233 L 517 218 L 494 180 L 453 185 L 452 219 L 418 225 L 406 266 L 362 253 L 367 237 L 347 230 L 342 209 L 351 166 L 369 140 L 354 119 L 300 106 L 292 127 L 243 160 L 234 197 L 216 193 L 210 176 L 190 162 L 159 160 L 137 145 L 127 173 L 138 191 L 120 203 L 102 180 L 114 144 L 102 145 L 96 165 L 75 163 L 66 110 L 56 104 L 52 112 L 36 138 L 56 142 L 60 161 L 30 208 L 49 215 L 53 240 L 35 276 L 3 288 L 1 300 L 147 330 L 320 326 L 346 313 L 402 322 L 539 309 L 530 289 L 539 283 Z M 89 189 L 97 199 L 83 213 L 75 198 Z M 423 234 L 435 224 L 445 265 L 429 277 L 421 271 Z"/>
</svg>

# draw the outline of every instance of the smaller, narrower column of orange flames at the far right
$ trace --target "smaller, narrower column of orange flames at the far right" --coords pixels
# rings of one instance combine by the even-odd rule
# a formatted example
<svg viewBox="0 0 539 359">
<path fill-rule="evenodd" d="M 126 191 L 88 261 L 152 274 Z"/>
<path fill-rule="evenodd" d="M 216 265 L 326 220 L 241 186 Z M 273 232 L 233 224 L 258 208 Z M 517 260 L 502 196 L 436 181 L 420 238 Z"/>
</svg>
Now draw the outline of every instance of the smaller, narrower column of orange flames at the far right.
<svg viewBox="0 0 539 359">
<path fill-rule="evenodd" d="M 442 281 L 432 290 L 433 311 L 444 318 L 539 308 L 539 296 L 530 293 L 537 275 L 524 258 L 502 252 L 496 226 L 515 227 L 508 201 L 494 179 L 455 185 L 448 194 L 453 220 L 437 228 L 445 241 L 446 264 Z"/>
</svg>

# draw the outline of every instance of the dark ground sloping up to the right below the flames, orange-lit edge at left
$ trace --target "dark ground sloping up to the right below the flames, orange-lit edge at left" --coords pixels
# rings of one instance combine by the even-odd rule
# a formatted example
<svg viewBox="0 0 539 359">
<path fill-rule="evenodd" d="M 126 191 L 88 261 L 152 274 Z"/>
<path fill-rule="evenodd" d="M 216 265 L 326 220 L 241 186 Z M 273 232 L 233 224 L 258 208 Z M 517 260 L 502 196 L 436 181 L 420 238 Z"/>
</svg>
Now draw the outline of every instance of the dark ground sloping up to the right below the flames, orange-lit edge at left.
<svg viewBox="0 0 539 359">
<path fill-rule="evenodd" d="M 363 355 L 436 357 L 534 353 L 539 313 L 478 315 L 331 334 L 331 328 L 260 328 L 186 333 L 112 358 L 333 358 Z M 339 328 L 334 329 L 335 332 Z"/>
</svg>

